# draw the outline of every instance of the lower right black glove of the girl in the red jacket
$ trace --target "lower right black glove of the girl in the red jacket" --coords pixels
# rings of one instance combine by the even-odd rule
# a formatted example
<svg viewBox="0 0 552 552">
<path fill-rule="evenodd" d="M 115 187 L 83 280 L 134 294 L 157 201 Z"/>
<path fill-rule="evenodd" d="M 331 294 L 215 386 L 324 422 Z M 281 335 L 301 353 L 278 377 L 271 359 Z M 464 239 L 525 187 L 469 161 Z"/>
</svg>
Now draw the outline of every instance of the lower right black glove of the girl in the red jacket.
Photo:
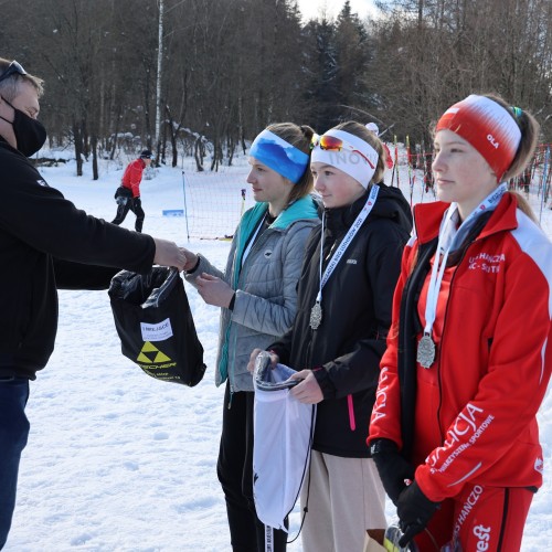
<svg viewBox="0 0 552 552">
<path fill-rule="evenodd" d="M 432 502 L 414 481 L 401 492 L 396 502 L 399 527 L 403 537 L 399 541 L 401 546 L 406 546 L 417 533 L 422 532 L 433 514 L 440 507 L 440 502 Z"/>
</svg>

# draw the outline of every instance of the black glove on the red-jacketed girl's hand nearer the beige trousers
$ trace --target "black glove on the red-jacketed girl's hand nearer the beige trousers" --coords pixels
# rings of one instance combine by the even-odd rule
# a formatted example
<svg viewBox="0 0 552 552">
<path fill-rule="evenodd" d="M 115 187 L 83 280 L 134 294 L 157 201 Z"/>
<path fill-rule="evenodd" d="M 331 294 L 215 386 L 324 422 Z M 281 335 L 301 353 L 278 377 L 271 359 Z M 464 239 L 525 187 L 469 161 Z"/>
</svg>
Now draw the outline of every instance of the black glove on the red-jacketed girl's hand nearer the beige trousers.
<svg viewBox="0 0 552 552">
<path fill-rule="evenodd" d="M 401 492 L 406 488 L 405 479 L 414 480 L 414 466 L 399 453 L 391 439 L 375 439 L 370 444 L 381 482 L 389 498 L 396 506 Z"/>
</svg>

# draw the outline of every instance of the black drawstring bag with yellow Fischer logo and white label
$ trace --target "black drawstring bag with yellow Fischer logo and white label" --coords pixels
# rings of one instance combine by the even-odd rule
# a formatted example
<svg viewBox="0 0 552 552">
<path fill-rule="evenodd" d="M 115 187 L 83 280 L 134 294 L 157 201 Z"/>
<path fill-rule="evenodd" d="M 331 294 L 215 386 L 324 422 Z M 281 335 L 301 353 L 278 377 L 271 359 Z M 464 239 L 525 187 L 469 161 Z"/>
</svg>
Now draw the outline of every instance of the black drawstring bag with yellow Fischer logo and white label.
<svg viewBox="0 0 552 552">
<path fill-rule="evenodd" d="M 157 380 L 192 388 L 205 373 L 184 284 L 176 268 L 116 274 L 109 286 L 115 327 L 125 357 Z"/>
</svg>

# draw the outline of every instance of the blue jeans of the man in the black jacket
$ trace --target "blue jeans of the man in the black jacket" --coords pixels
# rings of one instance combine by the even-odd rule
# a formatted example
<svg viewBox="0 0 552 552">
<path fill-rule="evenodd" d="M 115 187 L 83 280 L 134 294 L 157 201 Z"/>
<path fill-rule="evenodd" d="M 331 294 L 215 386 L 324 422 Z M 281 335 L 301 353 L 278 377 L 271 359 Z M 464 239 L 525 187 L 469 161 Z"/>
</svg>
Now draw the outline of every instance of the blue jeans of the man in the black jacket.
<svg viewBox="0 0 552 552">
<path fill-rule="evenodd" d="M 8 540 L 15 508 L 19 461 L 29 437 L 28 399 L 28 379 L 0 378 L 0 549 Z"/>
</svg>

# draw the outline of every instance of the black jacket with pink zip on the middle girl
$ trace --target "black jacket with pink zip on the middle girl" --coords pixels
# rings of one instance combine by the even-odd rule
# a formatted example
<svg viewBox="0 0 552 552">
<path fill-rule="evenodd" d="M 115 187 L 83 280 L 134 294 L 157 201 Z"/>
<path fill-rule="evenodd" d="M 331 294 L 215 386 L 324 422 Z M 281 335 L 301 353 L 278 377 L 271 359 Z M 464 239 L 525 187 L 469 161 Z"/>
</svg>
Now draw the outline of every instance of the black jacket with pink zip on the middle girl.
<svg viewBox="0 0 552 552">
<path fill-rule="evenodd" d="M 325 265 L 368 195 L 326 211 Z M 318 404 L 314 448 L 335 456 L 370 456 L 365 444 L 378 388 L 380 359 L 391 325 L 393 291 L 412 214 L 401 191 L 380 184 L 372 212 L 322 289 L 322 323 L 309 325 L 316 301 L 320 232 L 312 232 L 298 287 L 293 328 L 268 349 L 296 370 L 314 369 L 325 400 Z"/>
</svg>

